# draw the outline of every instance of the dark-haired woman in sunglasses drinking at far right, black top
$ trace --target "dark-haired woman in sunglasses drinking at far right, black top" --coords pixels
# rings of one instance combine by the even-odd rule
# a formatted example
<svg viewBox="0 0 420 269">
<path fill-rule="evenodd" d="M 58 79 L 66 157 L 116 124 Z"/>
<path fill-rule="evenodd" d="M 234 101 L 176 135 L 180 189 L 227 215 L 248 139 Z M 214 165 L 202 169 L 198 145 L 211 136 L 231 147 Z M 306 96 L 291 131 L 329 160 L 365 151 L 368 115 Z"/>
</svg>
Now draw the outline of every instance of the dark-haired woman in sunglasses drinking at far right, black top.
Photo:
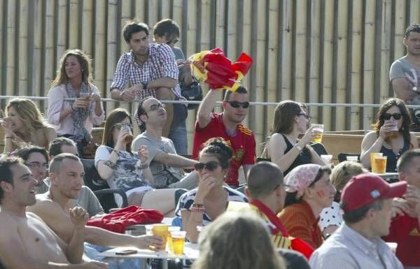
<svg viewBox="0 0 420 269">
<path fill-rule="evenodd" d="M 401 99 L 388 99 L 381 105 L 377 114 L 374 131 L 367 133 L 362 141 L 360 162 L 370 168 L 370 153 L 382 152 L 386 156 L 386 172 L 397 172 L 397 160 L 409 149 L 419 144 L 413 133 L 409 133 L 411 118 Z"/>
</svg>

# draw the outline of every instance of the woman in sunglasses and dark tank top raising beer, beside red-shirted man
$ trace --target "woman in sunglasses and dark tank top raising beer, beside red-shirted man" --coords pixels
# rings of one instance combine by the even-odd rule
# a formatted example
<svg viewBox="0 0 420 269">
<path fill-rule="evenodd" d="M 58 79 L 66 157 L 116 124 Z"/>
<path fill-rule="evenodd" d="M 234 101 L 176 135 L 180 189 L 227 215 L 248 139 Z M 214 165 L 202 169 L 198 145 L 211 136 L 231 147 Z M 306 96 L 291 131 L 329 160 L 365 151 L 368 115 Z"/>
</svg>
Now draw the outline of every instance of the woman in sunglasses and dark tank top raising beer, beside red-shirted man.
<svg viewBox="0 0 420 269">
<path fill-rule="evenodd" d="M 272 135 L 262 157 L 276 163 L 284 175 L 305 163 L 325 165 L 309 145 L 316 131 L 308 128 L 311 117 L 304 108 L 302 103 L 287 100 L 281 101 L 274 109 Z"/>
</svg>

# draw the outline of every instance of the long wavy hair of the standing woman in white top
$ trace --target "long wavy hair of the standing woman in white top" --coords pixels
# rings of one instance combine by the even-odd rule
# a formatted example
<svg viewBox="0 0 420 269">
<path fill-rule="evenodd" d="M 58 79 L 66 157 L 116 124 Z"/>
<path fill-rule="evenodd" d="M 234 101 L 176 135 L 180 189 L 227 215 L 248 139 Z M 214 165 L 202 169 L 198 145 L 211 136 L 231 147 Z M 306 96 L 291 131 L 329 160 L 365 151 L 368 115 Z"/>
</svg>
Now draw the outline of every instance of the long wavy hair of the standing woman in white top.
<svg viewBox="0 0 420 269">
<path fill-rule="evenodd" d="M 55 76 L 55 80 L 52 80 L 51 82 L 52 87 L 62 85 L 69 80 L 66 74 L 66 59 L 69 56 L 74 56 L 78 59 L 80 68 L 82 69 L 82 81 L 85 82 L 86 85 L 89 85 L 89 83 L 92 82 L 92 59 L 90 59 L 90 56 L 85 54 L 83 50 L 66 50 L 61 59 L 59 59 L 57 75 Z"/>
</svg>

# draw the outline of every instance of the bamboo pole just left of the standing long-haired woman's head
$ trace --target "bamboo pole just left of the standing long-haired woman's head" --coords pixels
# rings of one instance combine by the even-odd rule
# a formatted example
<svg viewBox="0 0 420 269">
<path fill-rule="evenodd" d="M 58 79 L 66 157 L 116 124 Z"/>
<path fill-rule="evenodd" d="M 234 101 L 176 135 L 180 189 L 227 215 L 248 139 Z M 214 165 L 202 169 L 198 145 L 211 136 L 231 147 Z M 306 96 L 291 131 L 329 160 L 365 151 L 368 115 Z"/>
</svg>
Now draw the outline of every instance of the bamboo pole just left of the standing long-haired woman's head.
<svg viewBox="0 0 420 269">
<path fill-rule="evenodd" d="M 48 95 L 48 89 L 50 89 L 51 80 L 55 78 L 54 68 L 54 15 L 55 15 L 55 3 L 53 0 L 46 1 L 45 8 L 45 71 L 43 75 L 43 89 L 41 89 L 41 96 Z M 42 102 L 41 102 L 42 103 Z"/>
</svg>

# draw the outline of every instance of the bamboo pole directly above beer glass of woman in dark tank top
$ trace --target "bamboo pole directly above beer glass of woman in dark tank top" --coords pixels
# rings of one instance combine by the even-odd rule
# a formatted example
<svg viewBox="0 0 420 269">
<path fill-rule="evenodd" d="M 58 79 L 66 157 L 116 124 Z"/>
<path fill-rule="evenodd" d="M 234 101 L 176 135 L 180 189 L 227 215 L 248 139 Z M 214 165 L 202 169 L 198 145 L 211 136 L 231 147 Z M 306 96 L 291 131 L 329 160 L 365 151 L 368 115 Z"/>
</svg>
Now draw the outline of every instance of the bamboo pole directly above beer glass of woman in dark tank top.
<svg viewBox="0 0 420 269">
<path fill-rule="evenodd" d="M 319 14 L 321 13 L 321 3 L 319 1 L 309 1 L 308 5 L 311 8 L 311 66 L 309 71 L 309 103 L 318 103 L 319 101 L 319 30 L 321 21 Z M 318 109 L 310 109 L 311 117 L 314 117 L 314 122 L 320 122 L 318 118 Z"/>
</svg>

